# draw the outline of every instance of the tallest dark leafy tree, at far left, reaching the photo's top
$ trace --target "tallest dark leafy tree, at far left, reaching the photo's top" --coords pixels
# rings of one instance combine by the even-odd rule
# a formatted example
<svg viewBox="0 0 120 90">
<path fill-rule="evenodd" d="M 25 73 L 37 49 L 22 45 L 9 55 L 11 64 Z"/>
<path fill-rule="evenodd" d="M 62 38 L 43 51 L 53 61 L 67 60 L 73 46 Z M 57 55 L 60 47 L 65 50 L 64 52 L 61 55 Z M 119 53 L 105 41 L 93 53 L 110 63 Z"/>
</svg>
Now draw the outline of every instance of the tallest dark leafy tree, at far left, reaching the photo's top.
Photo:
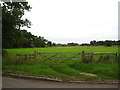
<svg viewBox="0 0 120 90">
<path fill-rule="evenodd" d="M 28 2 L 3 2 L 2 4 L 2 46 L 3 48 L 18 47 L 16 36 L 20 27 L 31 25 L 28 19 L 23 20 L 25 10 L 31 9 Z"/>
</svg>

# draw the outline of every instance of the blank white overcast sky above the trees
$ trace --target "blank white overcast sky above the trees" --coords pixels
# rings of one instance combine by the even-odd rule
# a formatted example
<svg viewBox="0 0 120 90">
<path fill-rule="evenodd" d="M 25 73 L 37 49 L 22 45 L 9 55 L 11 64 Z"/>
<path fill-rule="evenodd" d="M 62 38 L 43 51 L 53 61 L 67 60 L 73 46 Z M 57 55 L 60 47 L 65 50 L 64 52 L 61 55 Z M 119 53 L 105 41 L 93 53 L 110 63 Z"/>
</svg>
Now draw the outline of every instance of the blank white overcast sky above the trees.
<svg viewBox="0 0 120 90">
<path fill-rule="evenodd" d="M 27 29 L 55 43 L 118 40 L 119 0 L 28 0 Z"/>
</svg>

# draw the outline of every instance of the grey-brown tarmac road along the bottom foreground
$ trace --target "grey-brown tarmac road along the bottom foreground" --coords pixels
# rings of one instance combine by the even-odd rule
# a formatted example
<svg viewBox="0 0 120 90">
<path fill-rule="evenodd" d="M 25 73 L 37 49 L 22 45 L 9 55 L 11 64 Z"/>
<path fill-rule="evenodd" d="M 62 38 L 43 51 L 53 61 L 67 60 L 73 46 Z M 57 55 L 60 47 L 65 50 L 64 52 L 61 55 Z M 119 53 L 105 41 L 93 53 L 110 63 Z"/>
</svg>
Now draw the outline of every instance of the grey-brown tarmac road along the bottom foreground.
<svg viewBox="0 0 120 90">
<path fill-rule="evenodd" d="M 80 84 L 2 77 L 2 88 L 118 88 L 118 84 Z"/>
</svg>

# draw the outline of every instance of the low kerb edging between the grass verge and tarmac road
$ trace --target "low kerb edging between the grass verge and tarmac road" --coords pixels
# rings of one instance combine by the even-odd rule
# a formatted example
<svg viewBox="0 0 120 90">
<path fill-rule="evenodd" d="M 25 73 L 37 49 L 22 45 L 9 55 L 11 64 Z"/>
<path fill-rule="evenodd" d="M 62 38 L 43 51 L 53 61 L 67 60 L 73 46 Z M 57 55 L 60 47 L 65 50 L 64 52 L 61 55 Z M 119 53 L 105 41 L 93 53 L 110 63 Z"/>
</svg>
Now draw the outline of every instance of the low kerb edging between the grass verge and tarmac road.
<svg viewBox="0 0 120 90">
<path fill-rule="evenodd" d="M 36 77 L 36 76 L 26 76 L 18 75 L 13 73 L 2 73 L 2 76 L 9 76 L 13 78 L 23 78 L 23 79 L 34 79 L 34 80 L 45 80 L 45 81 L 54 81 L 54 82 L 65 82 L 60 79 L 46 78 L 46 77 Z M 81 80 L 81 81 L 67 81 L 69 83 L 81 83 L 81 84 L 119 84 L 119 80 Z"/>
</svg>

